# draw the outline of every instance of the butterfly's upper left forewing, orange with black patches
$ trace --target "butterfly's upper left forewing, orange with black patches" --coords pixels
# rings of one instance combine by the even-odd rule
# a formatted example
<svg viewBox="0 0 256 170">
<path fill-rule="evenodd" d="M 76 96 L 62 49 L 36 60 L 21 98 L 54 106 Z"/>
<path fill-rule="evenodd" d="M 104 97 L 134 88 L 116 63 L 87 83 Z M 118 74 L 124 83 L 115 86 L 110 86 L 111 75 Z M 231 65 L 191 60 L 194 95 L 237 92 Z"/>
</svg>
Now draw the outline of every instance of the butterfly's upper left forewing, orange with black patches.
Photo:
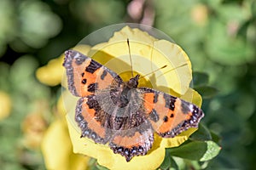
<svg viewBox="0 0 256 170">
<path fill-rule="evenodd" d="M 122 79 L 104 65 L 74 50 L 65 52 L 68 89 L 75 96 L 95 94 L 97 90 L 118 87 Z"/>
</svg>

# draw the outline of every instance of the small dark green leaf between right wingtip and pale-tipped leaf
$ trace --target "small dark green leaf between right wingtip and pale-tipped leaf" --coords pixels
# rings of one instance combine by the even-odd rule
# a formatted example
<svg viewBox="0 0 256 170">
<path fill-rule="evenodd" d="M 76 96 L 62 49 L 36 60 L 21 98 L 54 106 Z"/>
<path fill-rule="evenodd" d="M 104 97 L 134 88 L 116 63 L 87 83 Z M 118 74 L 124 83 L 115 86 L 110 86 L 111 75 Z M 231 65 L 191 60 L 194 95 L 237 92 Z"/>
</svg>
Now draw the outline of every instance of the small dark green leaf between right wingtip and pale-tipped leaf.
<svg viewBox="0 0 256 170">
<path fill-rule="evenodd" d="M 212 140 L 212 135 L 210 131 L 207 129 L 207 127 L 200 123 L 198 130 L 195 133 L 193 133 L 189 137 L 189 139 L 201 141 Z"/>
</svg>

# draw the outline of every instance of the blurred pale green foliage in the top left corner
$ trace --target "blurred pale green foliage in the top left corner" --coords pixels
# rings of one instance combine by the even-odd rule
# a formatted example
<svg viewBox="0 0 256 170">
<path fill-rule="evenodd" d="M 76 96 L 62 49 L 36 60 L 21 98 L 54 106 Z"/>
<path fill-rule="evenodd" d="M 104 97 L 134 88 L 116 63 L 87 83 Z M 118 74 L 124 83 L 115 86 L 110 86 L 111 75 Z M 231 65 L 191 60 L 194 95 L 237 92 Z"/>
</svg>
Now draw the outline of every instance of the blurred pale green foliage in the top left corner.
<svg viewBox="0 0 256 170">
<path fill-rule="evenodd" d="M 61 19 L 40 1 L 0 1 L 0 54 L 9 44 L 17 52 L 42 48 L 61 31 Z"/>
</svg>

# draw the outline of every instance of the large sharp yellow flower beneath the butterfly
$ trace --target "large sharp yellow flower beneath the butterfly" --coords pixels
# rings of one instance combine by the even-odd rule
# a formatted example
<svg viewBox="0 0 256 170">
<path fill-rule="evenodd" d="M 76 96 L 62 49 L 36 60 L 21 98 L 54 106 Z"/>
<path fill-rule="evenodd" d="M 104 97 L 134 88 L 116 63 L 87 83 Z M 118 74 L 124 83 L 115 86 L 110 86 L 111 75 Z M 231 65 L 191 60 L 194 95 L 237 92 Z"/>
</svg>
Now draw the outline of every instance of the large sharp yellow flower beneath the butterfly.
<svg viewBox="0 0 256 170">
<path fill-rule="evenodd" d="M 121 31 L 115 32 L 108 42 L 97 44 L 84 54 L 115 71 L 124 81 L 127 81 L 131 78 L 127 38 L 130 41 L 134 71 L 143 76 L 167 65 L 166 68 L 144 77 L 140 80 L 139 86 L 158 89 L 201 106 L 201 95 L 189 88 L 189 82 L 192 79 L 189 57 L 175 43 L 155 39 L 144 31 L 126 26 Z M 171 139 L 162 139 L 154 135 L 154 144 L 148 154 L 135 156 L 127 162 L 123 156 L 113 154 L 113 150 L 108 145 L 96 144 L 90 139 L 80 138 L 80 129 L 74 121 L 78 98 L 67 91 L 62 95 L 66 104 L 67 125 L 74 153 L 94 157 L 100 165 L 110 169 L 155 169 L 164 160 L 165 148 L 182 144 L 196 130 L 196 128 L 189 128 Z"/>
</svg>

